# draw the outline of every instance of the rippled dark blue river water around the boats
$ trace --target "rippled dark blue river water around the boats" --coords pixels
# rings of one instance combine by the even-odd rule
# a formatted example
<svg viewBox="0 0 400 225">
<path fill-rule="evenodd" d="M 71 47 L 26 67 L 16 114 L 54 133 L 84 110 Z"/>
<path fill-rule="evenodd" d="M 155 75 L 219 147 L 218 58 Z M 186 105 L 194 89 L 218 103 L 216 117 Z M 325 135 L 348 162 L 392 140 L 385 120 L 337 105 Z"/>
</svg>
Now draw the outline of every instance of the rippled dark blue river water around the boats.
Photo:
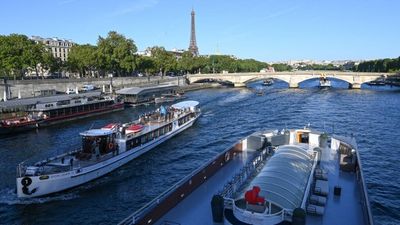
<svg viewBox="0 0 400 225">
<path fill-rule="evenodd" d="M 311 127 L 354 134 L 358 141 L 376 224 L 400 224 L 400 89 L 363 86 L 319 90 L 317 80 L 300 89 L 285 83 L 249 89 L 189 92 L 203 115 L 182 134 L 120 169 L 51 197 L 19 200 L 16 166 L 80 146 L 79 132 L 109 122 L 125 122 L 155 106 L 128 108 L 83 121 L 0 137 L 0 224 L 115 224 L 241 137 L 264 128 Z M 257 96 L 254 88 L 265 88 Z"/>
</svg>

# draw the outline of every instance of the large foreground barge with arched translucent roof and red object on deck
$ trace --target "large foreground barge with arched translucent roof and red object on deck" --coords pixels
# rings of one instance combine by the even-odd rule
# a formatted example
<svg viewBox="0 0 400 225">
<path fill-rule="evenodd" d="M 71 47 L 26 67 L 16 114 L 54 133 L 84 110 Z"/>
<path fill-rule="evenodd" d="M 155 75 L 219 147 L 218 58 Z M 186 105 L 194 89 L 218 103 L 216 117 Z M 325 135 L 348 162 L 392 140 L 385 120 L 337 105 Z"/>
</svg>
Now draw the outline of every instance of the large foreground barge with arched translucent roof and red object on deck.
<svg viewBox="0 0 400 225">
<path fill-rule="evenodd" d="M 353 137 L 257 131 L 120 224 L 373 224 Z"/>
</svg>

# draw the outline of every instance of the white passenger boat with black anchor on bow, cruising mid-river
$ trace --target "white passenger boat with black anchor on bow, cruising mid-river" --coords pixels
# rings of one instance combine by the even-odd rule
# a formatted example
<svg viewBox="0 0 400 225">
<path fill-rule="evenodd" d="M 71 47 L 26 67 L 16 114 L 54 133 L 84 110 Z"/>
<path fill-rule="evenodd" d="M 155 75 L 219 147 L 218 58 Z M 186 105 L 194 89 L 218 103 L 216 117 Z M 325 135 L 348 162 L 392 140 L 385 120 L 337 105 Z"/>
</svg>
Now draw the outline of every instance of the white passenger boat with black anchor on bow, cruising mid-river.
<svg viewBox="0 0 400 225">
<path fill-rule="evenodd" d="M 138 120 L 112 123 L 80 133 L 82 148 L 31 166 L 18 165 L 17 195 L 39 197 L 76 187 L 128 163 L 191 127 L 201 115 L 197 101 L 183 101 L 144 114 Z"/>
</svg>

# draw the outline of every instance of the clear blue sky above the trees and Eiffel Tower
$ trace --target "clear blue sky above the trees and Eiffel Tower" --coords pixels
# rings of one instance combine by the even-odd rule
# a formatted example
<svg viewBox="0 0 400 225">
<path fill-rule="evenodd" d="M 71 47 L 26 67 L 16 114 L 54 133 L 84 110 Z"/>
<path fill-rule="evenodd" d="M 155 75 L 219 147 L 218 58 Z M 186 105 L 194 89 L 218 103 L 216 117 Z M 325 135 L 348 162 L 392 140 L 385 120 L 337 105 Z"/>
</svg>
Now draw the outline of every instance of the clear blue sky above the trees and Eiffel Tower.
<svg viewBox="0 0 400 225">
<path fill-rule="evenodd" d="M 400 56 L 398 0 L 4 0 L 0 34 L 95 44 L 115 30 L 139 50 L 187 49 L 262 61 Z"/>
</svg>

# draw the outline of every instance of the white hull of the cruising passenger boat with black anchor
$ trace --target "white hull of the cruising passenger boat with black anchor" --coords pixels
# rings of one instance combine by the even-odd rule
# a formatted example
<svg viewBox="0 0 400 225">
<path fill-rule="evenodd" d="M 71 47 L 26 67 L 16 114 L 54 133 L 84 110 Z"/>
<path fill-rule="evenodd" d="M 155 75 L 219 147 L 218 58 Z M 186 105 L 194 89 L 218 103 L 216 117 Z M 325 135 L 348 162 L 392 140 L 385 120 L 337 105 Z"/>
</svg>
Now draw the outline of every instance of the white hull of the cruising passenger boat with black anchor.
<svg viewBox="0 0 400 225">
<path fill-rule="evenodd" d="M 77 187 L 97 179 L 191 127 L 199 116 L 200 114 L 198 114 L 197 117 L 193 118 L 185 125 L 171 131 L 170 133 L 167 133 L 165 136 L 159 139 L 150 141 L 140 147 L 125 151 L 101 163 L 97 163 L 85 168 L 77 168 L 64 173 L 17 178 L 17 195 L 19 198 L 39 197 Z"/>
</svg>

